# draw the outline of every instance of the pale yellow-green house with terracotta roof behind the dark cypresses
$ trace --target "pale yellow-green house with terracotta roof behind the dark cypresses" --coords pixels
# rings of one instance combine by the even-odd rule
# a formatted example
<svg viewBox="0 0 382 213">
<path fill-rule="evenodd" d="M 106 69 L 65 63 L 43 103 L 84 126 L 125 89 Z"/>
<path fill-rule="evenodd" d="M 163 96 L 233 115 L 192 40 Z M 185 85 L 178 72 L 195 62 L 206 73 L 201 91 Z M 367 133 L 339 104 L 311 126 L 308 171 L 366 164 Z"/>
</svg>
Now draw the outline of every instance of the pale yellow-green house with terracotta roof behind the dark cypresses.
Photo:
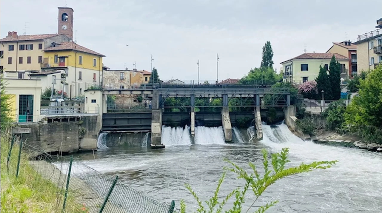
<svg viewBox="0 0 382 213">
<path fill-rule="evenodd" d="M 284 81 L 302 84 L 306 81 L 314 81 L 319 74 L 320 66 L 329 69 L 333 55 L 341 65 L 341 76 L 347 76 L 349 70 L 349 58 L 338 53 L 304 53 L 282 62 Z"/>
</svg>

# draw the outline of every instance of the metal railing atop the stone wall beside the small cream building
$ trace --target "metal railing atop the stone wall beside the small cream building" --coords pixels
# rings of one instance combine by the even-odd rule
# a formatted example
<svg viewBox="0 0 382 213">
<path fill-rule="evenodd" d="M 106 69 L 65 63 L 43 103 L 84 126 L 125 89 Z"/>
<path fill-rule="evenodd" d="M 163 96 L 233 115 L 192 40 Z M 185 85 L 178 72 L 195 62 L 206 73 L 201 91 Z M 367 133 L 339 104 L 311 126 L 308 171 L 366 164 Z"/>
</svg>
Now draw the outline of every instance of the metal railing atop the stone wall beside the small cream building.
<svg viewBox="0 0 382 213">
<path fill-rule="evenodd" d="M 99 107 L 83 106 L 41 106 L 41 115 L 76 115 L 76 114 L 97 114 Z"/>
</svg>

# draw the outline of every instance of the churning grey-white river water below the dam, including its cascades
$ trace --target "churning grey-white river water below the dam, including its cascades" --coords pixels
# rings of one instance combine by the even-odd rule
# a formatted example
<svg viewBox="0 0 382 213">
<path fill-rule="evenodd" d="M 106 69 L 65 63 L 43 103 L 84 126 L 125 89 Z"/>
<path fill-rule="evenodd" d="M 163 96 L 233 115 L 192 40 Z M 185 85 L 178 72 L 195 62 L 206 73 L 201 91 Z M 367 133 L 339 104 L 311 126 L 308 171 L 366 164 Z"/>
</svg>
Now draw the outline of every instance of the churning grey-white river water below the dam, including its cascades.
<svg viewBox="0 0 382 213">
<path fill-rule="evenodd" d="M 224 158 L 244 168 L 249 168 L 247 163 L 251 161 L 261 170 L 262 148 L 273 153 L 289 147 L 290 166 L 321 160 L 339 162 L 327 170 L 298 174 L 276 182 L 267 188 L 256 205 L 279 200 L 267 211 L 270 213 L 382 212 L 380 153 L 302 141 L 285 124 L 263 124 L 263 131 L 263 140 L 249 143 L 253 127 L 248 131 L 234 129 L 234 143 L 226 144 L 222 127 L 196 127 L 194 140 L 190 139 L 187 126 L 163 127 L 165 149 L 111 147 L 96 152 L 95 160 L 93 154 L 81 154 L 78 158 L 102 173 L 118 175 L 120 181 L 156 200 L 175 200 L 178 205 L 179 200 L 184 199 L 188 212 L 193 212 L 195 201 L 185 189 L 185 183 L 191 184 L 196 194 L 206 200 L 213 195 L 223 166 L 228 166 Z M 241 186 L 243 181 L 228 174 L 220 198 Z M 248 207 L 254 196 L 251 192 L 247 195 L 245 206 Z"/>
</svg>

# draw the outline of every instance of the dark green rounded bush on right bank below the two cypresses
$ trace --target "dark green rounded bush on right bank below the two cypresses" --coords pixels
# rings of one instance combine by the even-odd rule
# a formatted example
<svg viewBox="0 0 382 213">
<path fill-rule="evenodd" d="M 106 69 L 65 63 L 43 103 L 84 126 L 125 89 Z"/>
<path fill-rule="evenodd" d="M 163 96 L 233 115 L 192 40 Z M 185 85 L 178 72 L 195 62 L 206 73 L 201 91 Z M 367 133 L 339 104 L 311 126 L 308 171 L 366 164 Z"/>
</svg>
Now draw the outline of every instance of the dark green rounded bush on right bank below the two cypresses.
<svg viewBox="0 0 382 213">
<path fill-rule="evenodd" d="M 345 122 L 344 113 L 346 105 L 343 100 L 330 103 L 329 107 L 322 113 L 327 121 L 327 128 L 336 132 L 343 132 L 342 124 Z"/>
</svg>

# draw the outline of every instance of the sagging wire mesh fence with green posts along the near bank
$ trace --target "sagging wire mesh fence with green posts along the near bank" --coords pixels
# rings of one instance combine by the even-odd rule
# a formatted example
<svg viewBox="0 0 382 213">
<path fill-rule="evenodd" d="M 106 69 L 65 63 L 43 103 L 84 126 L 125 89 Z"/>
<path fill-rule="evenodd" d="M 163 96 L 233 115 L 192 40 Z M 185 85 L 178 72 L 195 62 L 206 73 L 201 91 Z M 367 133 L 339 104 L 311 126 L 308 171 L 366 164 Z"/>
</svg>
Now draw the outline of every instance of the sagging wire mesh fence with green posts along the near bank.
<svg viewBox="0 0 382 213">
<path fill-rule="evenodd" d="M 58 201 L 62 212 L 72 212 L 74 205 L 79 211 L 86 213 L 178 213 L 175 202 L 162 203 L 146 197 L 132 187 L 118 182 L 118 176 L 110 177 L 102 174 L 73 157 L 50 155 L 41 148 L 32 146 L 25 141 L 12 139 L 9 149 L 19 144 L 19 158 L 21 148 L 28 156 L 44 153 L 29 161 L 37 173 L 57 186 Z M 19 148 L 17 147 L 17 148 Z M 15 150 L 14 150 L 15 151 Z M 11 151 L 9 152 L 11 153 Z M 58 153 L 59 154 L 59 153 Z M 8 155 L 10 156 L 10 154 Z M 13 159 L 11 159 L 13 160 Z M 7 158 L 7 165 L 10 158 Z M 19 162 L 17 164 L 18 175 Z M 68 202 L 70 200 L 71 202 Z M 74 212 L 74 211 L 73 211 Z"/>
</svg>

